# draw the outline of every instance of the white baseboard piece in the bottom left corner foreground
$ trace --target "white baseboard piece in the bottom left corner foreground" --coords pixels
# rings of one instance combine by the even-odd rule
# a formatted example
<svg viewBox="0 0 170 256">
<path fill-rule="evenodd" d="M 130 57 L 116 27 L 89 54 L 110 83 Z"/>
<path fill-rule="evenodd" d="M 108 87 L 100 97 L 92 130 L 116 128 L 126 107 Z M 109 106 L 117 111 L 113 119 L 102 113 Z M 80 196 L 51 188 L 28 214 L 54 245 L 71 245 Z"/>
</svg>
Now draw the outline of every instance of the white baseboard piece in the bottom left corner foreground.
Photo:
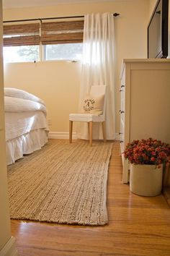
<svg viewBox="0 0 170 256">
<path fill-rule="evenodd" d="M 0 251 L 0 256 L 19 256 L 15 247 L 15 238 L 12 236 Z"/>
</svg>

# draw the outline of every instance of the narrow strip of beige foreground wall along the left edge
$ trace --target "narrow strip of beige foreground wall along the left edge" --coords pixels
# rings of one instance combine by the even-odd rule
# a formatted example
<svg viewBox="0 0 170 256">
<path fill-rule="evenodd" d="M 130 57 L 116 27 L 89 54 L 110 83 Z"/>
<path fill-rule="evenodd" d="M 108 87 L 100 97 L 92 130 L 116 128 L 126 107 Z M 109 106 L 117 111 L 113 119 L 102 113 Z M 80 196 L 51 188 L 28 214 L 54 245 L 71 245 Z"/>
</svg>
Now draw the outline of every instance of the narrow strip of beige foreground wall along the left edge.
<svg viewBox="0 0 170 256">
<path fill-rule="evenodd" d="M 4 81 L 3 81 L 3 63 L 2 63 L 2 13 L 0 1 L 0 253 L 6 242 L 11 238 L 9 222 L 9 205 L 7 195 L 6 179 L 6 153 L 5 153 L 5 132 L 4 132 Z"/>
</svg>

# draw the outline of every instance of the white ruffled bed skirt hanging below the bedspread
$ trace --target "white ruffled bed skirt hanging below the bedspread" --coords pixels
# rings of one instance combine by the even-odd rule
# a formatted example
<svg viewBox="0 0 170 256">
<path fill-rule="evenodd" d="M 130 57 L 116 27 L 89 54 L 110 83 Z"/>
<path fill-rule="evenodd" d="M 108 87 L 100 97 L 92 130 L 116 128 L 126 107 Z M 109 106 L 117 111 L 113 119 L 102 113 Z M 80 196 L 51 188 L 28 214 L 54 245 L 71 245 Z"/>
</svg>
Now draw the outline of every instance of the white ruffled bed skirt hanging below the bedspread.
<svg viewBox="0 0 170 256">
<path fill-rule="evenodd" d="M 30 154 L 35 150 L 40 150 L 48 142 L 48 131 L 36 129 L 16 139 L 6 142 L 6 163 L 14 163 L 23 155 Z"/>
</svg>

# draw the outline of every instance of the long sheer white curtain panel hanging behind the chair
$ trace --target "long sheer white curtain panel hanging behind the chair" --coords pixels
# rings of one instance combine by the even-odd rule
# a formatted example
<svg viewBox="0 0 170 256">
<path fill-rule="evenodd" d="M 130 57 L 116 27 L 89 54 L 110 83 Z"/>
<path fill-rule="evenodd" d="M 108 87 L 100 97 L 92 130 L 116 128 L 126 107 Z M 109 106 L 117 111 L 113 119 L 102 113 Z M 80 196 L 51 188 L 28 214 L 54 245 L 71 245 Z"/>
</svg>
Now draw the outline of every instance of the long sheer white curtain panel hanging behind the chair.
<svg viewBox="0 0 170 256">
<path fill-rule="evenodd" d="M 107 85 L 106 134 L 115 139 L 115 29 L 113 14 L 86 14 L 79 108 L 92 85 Z M 79 109 L 80 110 L 80 109 Z M 79 124 L 77 136 L 89 139 L 87 124 Z M 102 139 L 102 127 L 95 123 L 93 139 Z"/>
</svg>

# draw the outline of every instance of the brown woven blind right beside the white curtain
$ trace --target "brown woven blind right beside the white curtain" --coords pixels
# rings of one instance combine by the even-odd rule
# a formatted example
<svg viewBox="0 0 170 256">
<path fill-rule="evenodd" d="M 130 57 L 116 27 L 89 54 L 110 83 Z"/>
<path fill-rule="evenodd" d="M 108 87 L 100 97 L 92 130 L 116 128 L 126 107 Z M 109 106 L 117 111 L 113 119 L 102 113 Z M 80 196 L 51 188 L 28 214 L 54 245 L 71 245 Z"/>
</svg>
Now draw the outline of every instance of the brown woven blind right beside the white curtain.
<svg viewBox="0 0 170 256">
<path fill-rule="evenodd" d="M 81 43 L 84 37 L 84 20 L 42 22 L 42 45 L 59 43 Z"/>
</svg>

